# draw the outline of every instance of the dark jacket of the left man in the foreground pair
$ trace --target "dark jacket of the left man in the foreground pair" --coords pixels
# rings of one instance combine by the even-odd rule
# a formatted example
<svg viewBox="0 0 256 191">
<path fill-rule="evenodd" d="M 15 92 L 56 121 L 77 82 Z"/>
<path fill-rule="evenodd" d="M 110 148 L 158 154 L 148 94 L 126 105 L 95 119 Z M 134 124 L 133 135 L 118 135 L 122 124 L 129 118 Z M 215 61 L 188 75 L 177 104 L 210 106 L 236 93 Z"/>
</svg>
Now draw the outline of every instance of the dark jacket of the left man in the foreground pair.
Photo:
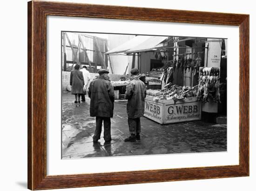
<svg viewBox="0 0 256 191">
<path fill-rule="evenodd" d="M 115 94 L 108 79 L 102 76 L 94 79 L 89 86 L 88 96 L 91 99 L 91 117 L 113 118 Z"/>
</svg>

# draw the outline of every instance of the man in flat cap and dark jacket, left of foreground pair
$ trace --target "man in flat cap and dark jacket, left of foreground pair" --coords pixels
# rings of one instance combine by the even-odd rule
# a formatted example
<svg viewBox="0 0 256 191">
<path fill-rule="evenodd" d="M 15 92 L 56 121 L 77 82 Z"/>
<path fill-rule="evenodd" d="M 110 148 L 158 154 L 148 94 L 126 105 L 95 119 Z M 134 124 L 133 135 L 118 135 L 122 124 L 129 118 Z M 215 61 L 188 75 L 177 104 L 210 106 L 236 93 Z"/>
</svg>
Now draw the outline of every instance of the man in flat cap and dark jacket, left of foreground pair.
<svg viewBox="0 0 256 191">
<path fill-rule="evenodd" d="M 97 143 L 101 138 L 102 121 L 104 122 L 104 140 L 111 141 L 110 118 L 113 117 L 115 94 L 114 88 L 108 78 L 108 70 L 100 69 L 100 77 L 94 79 L 88 91 L 90 102 L 90 116 L 96 117 L 96 127 L 93 142 Z"/>
</svg>

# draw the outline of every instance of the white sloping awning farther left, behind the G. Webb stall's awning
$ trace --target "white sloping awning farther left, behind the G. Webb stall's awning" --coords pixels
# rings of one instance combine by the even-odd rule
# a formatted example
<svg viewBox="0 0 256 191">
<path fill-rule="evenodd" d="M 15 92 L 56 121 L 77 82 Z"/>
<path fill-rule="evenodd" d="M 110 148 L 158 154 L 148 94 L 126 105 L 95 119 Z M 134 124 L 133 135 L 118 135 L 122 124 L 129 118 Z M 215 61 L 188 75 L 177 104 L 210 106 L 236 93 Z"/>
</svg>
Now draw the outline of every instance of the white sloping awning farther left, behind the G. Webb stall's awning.
<svg viewBox="0 0 256 191">
<path fill-rule="evenodd" d="M 113 48 L 112 50 L 109 50 L 105 54 L 124 53 L 124 52 L 130 50 L 132 47 L 138 46 L 139 44 L 141 44 L 145 40 L 148 40 L 149 38 L 150 38 L 150 36 L 141 36 L 141 35 L 135 36 L 133 39 L 128 40 L 127 42 L 121 44 L 120 46 Z"/>
</svg>

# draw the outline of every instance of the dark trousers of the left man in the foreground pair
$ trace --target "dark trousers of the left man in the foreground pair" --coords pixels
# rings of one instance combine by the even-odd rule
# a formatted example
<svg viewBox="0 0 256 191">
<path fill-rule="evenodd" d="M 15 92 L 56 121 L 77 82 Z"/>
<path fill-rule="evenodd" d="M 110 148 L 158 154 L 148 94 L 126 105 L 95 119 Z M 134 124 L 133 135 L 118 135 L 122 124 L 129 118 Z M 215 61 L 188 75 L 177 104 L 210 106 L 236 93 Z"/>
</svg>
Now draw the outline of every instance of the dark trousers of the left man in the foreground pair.
<svg viewBox="0 0 256 191">
<path fill-rule="evenodd" d="M 96 117 L 96 127 L 94 131 L 93 140 L 98 141 L 101 138 L 101 128 L 102 122 L 104 122 L 104 140 L 110 141 L 111 140 L 111 120 L 110 118 L 103 118 L 103 117 Z"/>
</svg>

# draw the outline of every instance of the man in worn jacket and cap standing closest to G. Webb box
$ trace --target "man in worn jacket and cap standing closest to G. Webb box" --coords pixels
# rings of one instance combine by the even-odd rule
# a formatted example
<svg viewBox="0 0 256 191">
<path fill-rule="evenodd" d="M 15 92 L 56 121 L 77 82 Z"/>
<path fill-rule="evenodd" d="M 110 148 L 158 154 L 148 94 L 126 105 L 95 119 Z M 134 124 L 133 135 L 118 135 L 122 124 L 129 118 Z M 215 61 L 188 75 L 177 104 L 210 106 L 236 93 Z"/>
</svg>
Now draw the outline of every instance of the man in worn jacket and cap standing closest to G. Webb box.
<svg viewBox="0 0 256 191">
<path fill-rule="evenodd" d="M 130 137 L 125 138 L 124 141 L 140 140 L 141 132 L 141 117 L 144 115 L 146 86 L 139 79 L 139 70 L 133 68 L 131 70 L 131 81 L 126 86 L 125 99 L 127 102 L 127 114 Z"/>
</svg>

